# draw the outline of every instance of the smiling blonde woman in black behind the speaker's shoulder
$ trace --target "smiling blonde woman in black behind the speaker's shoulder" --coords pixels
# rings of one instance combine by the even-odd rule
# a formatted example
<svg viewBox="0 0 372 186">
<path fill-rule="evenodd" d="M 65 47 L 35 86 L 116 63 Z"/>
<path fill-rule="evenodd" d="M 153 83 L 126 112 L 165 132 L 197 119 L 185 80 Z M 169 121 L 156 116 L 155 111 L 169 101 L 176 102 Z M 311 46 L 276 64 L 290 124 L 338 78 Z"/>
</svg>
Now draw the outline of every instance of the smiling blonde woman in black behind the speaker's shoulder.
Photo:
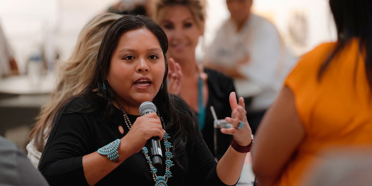
<svg viewBox="0 0 372 186">
<path fill-rule="evenodd" d="M 204 33 L 205 3 L 205 0 L 157 0 L 154 20 L 167 34 L 167 58 L 181 65 L 183 82 L 179 95 L 197 114 L 199 128 L 209 150 L 220 159 L 232 138 L 220 135 L 215 154 L 210 106 L 214 107 L 218 119 L 228 117 L 231 113 L 228 98 L 235 87 L 231 78 L 196 61 L 195 48 Z"/>
</svg>

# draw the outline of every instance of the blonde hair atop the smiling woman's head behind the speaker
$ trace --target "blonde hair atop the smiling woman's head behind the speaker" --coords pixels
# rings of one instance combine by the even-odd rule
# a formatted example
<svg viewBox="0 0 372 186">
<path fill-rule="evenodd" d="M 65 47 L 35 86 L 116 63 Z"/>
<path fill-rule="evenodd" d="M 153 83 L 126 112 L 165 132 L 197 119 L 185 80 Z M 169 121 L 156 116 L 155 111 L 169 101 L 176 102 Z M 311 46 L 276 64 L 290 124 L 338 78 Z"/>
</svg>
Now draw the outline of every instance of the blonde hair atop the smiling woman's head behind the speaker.
<svg viewBox="0 0 372 186">
<path fill-rule="evenodd" d="M 197 26 L 204 33 L 206 0 L 155 0 L 154 3 L 153 19 L 155 22 L 160 23 L 164 18 L 165 11 L 173 5 L 184 5 L 190 10 Z"/>
</svg>

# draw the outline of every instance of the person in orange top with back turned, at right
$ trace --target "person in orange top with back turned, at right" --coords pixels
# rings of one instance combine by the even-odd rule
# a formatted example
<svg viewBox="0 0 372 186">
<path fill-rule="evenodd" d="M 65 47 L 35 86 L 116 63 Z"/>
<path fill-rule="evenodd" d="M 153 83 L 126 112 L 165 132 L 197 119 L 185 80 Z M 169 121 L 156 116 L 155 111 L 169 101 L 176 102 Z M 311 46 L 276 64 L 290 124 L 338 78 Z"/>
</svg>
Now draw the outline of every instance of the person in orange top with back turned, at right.
<svg viewBox="0 0 372 186">
<path fill-rule="evenodd" d="M 252 149 L 259 186 L 299 186 L 329 149 L 372 147 L 372 3 L 329 0 L 338 40 L 304 55 Z"/>
</svg>

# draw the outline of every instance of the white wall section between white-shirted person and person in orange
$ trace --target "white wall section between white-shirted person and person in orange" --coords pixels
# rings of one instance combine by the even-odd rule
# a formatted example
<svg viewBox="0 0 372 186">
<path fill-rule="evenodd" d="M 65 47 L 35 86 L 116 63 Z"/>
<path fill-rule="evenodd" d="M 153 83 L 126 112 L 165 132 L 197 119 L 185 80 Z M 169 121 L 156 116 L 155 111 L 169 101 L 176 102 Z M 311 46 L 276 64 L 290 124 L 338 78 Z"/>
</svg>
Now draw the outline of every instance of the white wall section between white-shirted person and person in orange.
<svg viewBox="0 0 372 186">
<path fill-rule="evenodd" d="M 300 56 L 323 42 L 337 39 L 336 28 L 328 0 L 253 0 L 253 11 L 269 18 L 277 26 L 292 52 Z M 301 29 L 295 15 L 305 19 L 306 39 L 299 45 L 291 39 L 289 27 Z M 299 30 L 298 30 L 299 31 Z"/>
</svg>

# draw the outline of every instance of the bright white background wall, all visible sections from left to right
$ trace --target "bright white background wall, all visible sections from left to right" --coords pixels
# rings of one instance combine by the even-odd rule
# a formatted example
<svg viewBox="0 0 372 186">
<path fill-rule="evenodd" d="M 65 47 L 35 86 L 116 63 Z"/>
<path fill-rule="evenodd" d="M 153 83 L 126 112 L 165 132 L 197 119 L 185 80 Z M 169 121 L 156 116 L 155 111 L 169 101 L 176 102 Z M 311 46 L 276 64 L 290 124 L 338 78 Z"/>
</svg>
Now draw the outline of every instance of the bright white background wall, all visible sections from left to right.
<svg viewBox="0 0 372 186">
<path fill-rule="evenodd" d="M 83 25 L 116 1 L 0 0 L 0 24 L 15 51 L 21 72 L 25 70 L 30 53 L 43 43 L 50 50 L 54 46 L 61 59 L 67 59 Z M 273 21 L 294 54 L 302 55 L 321 42 L 336 39 L 327 3 L 327 0 L 253 0 L 253 12 Z M 304 45 L 293 42 L 289 34 L 293 12 L 300 12 L 307 18 Z M 210 44 L 215 30 L 230 16 L 225 0 L 208 0 L 207 14 L 204 46 Z M 203 55 L 201 46 L 197 49 L 199 58 Z"/>
</svg>

